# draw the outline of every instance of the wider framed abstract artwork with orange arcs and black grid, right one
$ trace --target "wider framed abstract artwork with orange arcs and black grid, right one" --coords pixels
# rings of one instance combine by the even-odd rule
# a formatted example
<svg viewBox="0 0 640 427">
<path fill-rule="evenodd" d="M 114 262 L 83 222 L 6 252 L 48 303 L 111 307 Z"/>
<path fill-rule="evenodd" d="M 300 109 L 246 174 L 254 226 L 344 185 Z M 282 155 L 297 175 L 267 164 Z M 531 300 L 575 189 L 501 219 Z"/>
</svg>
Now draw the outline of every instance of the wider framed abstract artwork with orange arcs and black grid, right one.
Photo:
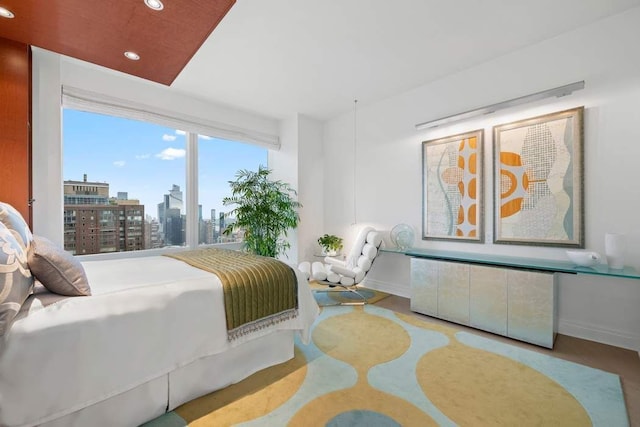
<svg viewBox="0 0 640 427">
<path fill-rule="evenodd" d="M 494 243 L 584 247 L 583 113 L 494 126 Z"/>
</svg>

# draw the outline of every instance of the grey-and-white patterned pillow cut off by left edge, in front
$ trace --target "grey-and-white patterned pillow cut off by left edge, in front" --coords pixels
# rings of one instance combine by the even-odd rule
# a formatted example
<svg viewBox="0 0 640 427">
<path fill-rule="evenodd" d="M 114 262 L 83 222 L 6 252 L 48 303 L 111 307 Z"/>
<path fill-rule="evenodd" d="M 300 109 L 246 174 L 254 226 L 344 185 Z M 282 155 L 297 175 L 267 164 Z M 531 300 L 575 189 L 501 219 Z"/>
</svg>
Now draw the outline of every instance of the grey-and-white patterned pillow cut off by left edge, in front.
<svg viewBox="0 0 640 427">
<path fill-rule="evenodd" d="M 12 230 L 0 223 L 0 337 L 13 323 L 22 304 L 33 291 L 27 253 Z"/>
</svg>

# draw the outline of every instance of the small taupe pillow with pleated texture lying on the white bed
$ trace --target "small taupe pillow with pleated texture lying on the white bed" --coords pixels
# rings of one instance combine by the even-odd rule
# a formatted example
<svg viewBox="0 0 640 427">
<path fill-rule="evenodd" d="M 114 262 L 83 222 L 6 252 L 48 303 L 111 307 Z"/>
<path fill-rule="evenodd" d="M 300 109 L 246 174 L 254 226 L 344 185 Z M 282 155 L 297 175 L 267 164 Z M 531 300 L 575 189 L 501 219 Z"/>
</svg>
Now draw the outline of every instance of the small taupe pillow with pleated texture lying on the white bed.
<svg viewBox="0 0 640 427">
<path fill-rule="evenodd" d="M 31 273 L 49 292 L 71 297 L 91 295 L 80 261 L 51 240 L 33 236 L 27 261 Z"/>
</svg>

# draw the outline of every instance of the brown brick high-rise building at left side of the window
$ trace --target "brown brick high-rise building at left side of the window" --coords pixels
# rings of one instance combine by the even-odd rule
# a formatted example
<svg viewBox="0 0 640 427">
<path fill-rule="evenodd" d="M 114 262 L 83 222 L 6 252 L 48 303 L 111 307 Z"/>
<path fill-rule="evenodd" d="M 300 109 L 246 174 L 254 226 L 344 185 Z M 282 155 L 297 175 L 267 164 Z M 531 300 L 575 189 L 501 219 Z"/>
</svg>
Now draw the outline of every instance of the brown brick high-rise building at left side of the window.
<svg viewBox="0 0 640 427">
<path fill-rule="evenodd" d="M 72 254 L 145 249 L 144 206 L 123 199 L 111 204 L 109 184 L 64 182 L 64 248 Z"/>
</svg>

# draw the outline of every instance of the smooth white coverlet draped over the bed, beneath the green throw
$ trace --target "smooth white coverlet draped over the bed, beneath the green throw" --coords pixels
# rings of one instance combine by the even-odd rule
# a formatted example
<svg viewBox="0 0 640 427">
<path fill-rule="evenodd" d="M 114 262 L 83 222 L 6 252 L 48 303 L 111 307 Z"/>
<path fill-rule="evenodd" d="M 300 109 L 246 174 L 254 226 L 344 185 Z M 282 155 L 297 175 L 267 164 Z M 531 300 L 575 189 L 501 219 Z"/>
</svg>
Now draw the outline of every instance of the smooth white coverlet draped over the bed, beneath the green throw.
<svg viewBox="0 0 640 427">
<path fill-rule="evenodd" d="M 273 330 L 308 341 L 318 313 L 298 276 L 296 319 L 229 342 L 215 275 L 163 256 L 83 265 L 93 296 L 32 295 L 2 343 L 0 425 L 55 419 Z"/>
</svg>

